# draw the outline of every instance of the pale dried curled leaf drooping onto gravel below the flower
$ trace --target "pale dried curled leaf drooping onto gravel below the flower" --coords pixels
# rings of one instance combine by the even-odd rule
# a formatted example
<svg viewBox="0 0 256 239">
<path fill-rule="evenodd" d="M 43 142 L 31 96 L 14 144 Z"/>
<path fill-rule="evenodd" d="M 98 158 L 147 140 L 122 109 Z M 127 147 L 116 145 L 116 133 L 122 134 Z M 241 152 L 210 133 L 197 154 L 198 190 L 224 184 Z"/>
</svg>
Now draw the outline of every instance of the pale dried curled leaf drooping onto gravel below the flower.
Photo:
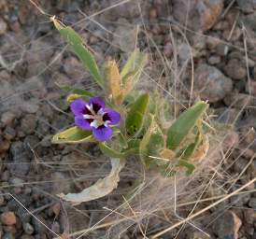
<svg viewBox="0 0 256 239">
<path fill-rule="evenodd" d="M 99 179 L 91 187 L 78 193 L 61 193 L 58 196 L 72 204 L 81 204 L 98 198 L 102 198 L 118 187 L 120 172 L 125 164 L 124 160 L 111 159 L 111 172 L 105 178 Z"/>
</svg>

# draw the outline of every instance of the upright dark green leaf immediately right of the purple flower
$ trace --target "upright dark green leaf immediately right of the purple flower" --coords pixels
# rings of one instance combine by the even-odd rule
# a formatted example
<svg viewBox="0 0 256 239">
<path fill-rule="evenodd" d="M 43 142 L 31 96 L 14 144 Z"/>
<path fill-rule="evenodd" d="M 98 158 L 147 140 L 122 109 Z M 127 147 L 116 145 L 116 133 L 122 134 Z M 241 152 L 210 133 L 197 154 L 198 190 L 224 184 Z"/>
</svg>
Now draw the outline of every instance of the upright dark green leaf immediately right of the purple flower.
<svg viewBox="0 0 256 239">
<path fill-rule="evenodd" d="M 127 114 L 125 121 L 126 132 L 128 135 L 133 136 L 142 128 L 143 119 L 149 105 L 149 94 L 145 93 L 140 95 Z"/>
</svg>

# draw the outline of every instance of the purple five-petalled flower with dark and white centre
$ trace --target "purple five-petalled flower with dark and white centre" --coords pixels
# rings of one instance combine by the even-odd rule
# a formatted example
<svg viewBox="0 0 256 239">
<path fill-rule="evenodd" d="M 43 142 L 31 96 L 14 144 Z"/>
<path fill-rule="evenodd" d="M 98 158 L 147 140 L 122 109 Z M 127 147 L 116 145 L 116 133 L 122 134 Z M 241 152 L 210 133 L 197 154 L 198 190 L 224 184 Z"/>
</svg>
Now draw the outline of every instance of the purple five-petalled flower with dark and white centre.
<svg viewBox="0 0 256 239">
<path fill-rule="evenodd" d="M 89 103 L 77 99 L 70 105 L 75 115 L 75 124 L 84 130 L 92 131 L 93 136 L 99 141 L 107 141 L 113 135 L 110 126 L 118 124 L 120 114 L 105 107 L 105 102 L 100 97 L 92 97 Z"/>
</svg>

